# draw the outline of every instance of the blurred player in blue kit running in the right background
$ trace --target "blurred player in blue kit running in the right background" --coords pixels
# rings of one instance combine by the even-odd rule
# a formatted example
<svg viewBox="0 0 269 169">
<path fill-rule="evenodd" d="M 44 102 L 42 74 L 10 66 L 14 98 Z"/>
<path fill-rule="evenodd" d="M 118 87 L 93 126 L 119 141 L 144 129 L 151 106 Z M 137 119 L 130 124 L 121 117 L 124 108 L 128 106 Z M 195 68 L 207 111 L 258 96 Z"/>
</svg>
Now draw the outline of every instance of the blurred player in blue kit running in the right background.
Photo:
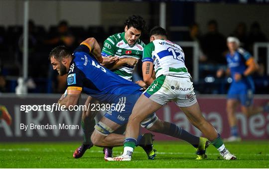
<svg viewBox="0 0 269 169">
<path fill-rule="evenodd" d="M 223 69 L 217 71 L 217 77 L 223 74 L 231 75 L 232 83 L 228 91 L 226 111 L 228 115 L 231 137 L 227 142 L 241 141 L 239 136 L 236 109 L 241 104 L 241 111 L 247 117 L 261 112 L 268 112 L 269 105 L 263 107 L 253 106 L 253 94 L 255 91 L 254 81 L 251 75 L 258 69 L 258 64 L 254 58 L 245 49 L 240 48 L 240 41 L 237 37 L 228 37 L 227 46 L 229 52 L 226 55 L 228 68 L 226 72 Z"/>
</svg>

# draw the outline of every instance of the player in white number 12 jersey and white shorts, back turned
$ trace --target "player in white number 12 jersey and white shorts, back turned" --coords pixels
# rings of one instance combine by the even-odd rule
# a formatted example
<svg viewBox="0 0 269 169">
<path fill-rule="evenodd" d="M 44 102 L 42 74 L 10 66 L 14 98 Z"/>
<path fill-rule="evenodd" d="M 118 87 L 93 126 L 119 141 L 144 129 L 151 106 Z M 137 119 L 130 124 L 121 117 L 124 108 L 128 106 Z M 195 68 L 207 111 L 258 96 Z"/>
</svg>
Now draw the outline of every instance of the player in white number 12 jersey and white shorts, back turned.
<svg viewBox="0 0 269 169">
<path fill-rule="evenodd" d="M 131 161 L 140 123 L 170 101 L 176 103 L 225 160 L 236 160 L 224 146 L 216 129 L 201 113 L 181 47 L 168 41 L 166 30 L 159 26 L 151 29 L 149 35 L 150 43 L 143 51 L 142 72 L 144 82 L 150 86 L 139 97 L 129 117 L 124 153 L 113 161 Z M 153 70 L 156 79 L 152 78 Z"/>
</svg>

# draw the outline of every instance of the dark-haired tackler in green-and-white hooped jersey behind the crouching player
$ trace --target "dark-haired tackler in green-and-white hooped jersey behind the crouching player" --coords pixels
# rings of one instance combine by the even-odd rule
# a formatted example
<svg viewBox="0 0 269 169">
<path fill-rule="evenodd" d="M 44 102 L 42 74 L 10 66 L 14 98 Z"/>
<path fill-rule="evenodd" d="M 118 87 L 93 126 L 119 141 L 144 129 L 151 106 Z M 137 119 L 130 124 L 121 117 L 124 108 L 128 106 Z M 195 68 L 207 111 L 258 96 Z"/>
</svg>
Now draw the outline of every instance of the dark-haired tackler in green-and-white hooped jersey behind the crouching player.
<svg viewBox="0 0 269 169">
<path fill-rule="evenodd" d="M 112 70 L 120 77 L 132 81 L 134 67 L 139 59 L 142 58 L 142 52 L 145 44 L 139 39 L 145 30 L 145 21 L 139 15 L 132 15 L 125 21 L 125 31 L 109 36 L 104 41 L 102 49 L 103 66 Z M 88 97 L 85 105 L 97 104 L 98 101 Z M 83 144 L 76 149 L 73 154 L 74 158 L 81 158 L 86 150 L 90 149 L 93 144 L 91 142 L 91 134 L 95 125 L 94 117 L 97 111 L 83 111 L 81 124 L 84 132 Z M 125 129 L 125 128 L 124 128 Z M 152 135 L 146 134 L 144 140 L 152 140 Z M 154 158 L 152 146 L 144 145 L 142 148 L 150 157 Z M 104 148 L 104 159 L 112 158 L 112 147 Z"/>
</svg>

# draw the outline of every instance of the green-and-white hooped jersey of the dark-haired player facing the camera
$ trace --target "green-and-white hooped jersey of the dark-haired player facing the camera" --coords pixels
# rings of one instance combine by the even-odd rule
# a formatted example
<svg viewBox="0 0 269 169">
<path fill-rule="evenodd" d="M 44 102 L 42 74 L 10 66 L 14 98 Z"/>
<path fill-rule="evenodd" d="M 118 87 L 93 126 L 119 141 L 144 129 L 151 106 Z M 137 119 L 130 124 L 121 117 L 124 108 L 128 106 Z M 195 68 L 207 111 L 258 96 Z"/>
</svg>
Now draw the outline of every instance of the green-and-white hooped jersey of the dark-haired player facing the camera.
<svg viewBox="0 0 269 169">
<path fill-rule="evenodd" d="M 114 35 L 109 36 L 104 41 L 104 47 L 102 49 L 102 56 L 111 55 L 111 56 L 119 56 L 119 58 L 134 57 L 138 60 L 141 59 L 145 44 L 140 39 L 138 39 L 134 45 L 130 46 L 127 43 L 124 36 L 125 36 L 125 32 L 116 33 Z M 123 66 L 120 66 L 111 71 L 131 81 L 132 74 L 134 71 L 134 66 L 124 64 Z"/>
</svg>

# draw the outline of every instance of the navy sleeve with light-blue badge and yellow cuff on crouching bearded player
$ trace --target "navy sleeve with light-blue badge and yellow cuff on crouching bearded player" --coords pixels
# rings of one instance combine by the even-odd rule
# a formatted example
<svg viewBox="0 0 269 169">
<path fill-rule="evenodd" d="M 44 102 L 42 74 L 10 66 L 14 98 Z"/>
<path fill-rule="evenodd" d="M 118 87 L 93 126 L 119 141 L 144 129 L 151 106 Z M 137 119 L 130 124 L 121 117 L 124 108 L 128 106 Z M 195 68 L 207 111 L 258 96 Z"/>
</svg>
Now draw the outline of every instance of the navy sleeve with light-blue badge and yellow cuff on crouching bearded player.
<svg viewBox="0 0 269 169">
<path fill-rule="evenodd" d="M 80 70 L 74 67 L 68 73 L 67 76 L 67 90 L 79 90 L 82 91 L 83 88 L 83 74 Z"/>
</svg>

